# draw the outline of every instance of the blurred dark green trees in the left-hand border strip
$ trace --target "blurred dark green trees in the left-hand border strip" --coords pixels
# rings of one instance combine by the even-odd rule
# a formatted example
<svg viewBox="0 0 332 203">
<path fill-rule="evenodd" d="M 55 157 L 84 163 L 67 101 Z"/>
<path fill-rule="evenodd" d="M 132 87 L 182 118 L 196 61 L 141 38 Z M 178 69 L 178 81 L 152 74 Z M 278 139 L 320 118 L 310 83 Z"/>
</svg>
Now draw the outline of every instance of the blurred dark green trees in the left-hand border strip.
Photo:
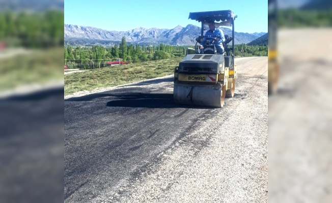
<svg viewBox="0 0 332 203">
<path fill-rule="evenodd" d="M 0 13 L 0 40 L 8 46 L 45 48 L 64 45 L 64 12 Z"/>
</svg>

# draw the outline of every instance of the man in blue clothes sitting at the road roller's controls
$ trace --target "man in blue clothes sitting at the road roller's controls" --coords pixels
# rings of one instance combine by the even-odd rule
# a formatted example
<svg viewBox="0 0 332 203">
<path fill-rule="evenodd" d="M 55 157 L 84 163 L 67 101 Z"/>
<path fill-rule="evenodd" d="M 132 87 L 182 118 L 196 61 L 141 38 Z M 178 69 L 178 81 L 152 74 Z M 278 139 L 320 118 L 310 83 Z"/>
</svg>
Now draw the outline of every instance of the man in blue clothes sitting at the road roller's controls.
<svg viewBox="0 0 332 203">
<path fill-rule="evenodd" d="M 203 45 L 205 44 L 206 40 L 209 40 L 209 42 L 212 42 L 212 39 L 215 39 L 216 37 L 220 37 L 223 40 L 223 42 L 225 42 L 225 35 L 224 35 L 223 30 L 216 28 L 215 23 L 212 20 L 208 21 L 208 25 L 209 25 L 210 29 L 206 31 L 204 40 L 200 45 L 200 49 L 203 48 Z M 207 37 L 207 36 L 211 36 L 211 37 Z M 213 45 L 215 46 L 215 48 L 219 54 L 224 53 L 224 46 L 223 46 L 221 40 L 219 42 L 213 42 Z"/>
</svg>

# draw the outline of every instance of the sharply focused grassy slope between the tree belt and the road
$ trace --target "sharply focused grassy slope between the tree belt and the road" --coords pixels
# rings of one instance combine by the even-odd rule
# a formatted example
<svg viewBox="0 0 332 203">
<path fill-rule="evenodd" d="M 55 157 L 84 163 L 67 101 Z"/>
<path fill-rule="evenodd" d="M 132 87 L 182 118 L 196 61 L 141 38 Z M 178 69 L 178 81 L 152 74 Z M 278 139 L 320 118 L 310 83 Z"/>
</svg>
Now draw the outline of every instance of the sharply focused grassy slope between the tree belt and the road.
<svg viewBox="0 0 332 203">
<path fill-rule="evenodd" d="M 82 90 L 113 87 L 174 74 L 182 58 L 162 59 L 65 75 L 65 95 Z"/>
</svg>

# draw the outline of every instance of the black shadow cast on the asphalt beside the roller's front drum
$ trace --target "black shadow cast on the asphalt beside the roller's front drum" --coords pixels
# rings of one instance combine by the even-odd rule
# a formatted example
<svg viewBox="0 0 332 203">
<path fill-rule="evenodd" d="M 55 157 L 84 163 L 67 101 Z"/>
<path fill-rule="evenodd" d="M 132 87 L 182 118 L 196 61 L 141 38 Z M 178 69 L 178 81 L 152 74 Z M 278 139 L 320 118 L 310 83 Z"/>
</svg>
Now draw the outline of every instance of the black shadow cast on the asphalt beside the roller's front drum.
<svg viewBox="0 0 332 203">
<path fill-rule="evenodd" d="M 108 101 L 107 107 L 211 109 L 209 107 L 176 104 L 173 94 L 170 93 L 121 93 L 112 94 L 112 97 L 116 98 Z"/>
</svg>

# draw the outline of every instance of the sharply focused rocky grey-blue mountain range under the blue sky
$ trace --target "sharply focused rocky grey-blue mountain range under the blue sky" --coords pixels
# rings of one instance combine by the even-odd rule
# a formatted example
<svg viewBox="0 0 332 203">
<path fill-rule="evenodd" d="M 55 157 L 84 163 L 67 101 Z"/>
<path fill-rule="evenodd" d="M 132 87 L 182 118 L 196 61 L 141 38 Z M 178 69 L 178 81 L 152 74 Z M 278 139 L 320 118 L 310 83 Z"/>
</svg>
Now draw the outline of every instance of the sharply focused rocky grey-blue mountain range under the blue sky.
<svg viewBox="0 0 332 203">
<path fill-rule="evenodd" d="M 225 35 L 232 36 L 232 30 L 221 27 Z M 137 27 L 128 31 L 109 31 L 90 26 L 64 25 L 65 45 L 103 45 L 113 46 L 119 44 L 122 37 L 128 44 L 170 44 L 170 45 L 195 45 L 195 39 L 200 35 L 201 28 L 188 24 L 180 25 L 173 29 Z M 265 35 L 266 32 L 244 33 L 234 32 L 235 44 L 249 43 Z"/>
</svg>

